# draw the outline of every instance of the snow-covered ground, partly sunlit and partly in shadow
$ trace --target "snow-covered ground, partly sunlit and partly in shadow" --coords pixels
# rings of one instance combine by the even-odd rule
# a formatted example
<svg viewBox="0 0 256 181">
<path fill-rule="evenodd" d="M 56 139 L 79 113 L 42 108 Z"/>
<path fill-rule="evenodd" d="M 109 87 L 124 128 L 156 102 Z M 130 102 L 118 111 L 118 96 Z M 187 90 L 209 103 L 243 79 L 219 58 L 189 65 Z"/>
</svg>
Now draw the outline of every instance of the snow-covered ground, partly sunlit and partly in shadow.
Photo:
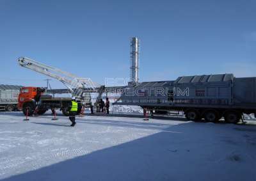
<svg viewBox="0 0 256 181">
<path fill-rule="evenodd" d="M 0 113 L 1 180 L 256 180 L 256 122 Z"/>
</svg>

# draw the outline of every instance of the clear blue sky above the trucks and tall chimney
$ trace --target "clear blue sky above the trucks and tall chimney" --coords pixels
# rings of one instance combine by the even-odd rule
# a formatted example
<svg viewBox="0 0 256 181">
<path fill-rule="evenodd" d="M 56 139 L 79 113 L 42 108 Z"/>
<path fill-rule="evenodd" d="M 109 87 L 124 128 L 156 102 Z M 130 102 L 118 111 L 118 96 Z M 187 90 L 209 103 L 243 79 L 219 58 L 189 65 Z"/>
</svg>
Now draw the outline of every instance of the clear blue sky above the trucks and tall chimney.
<svg viewBox="0 0 256 181">
<path fill-rule="evenodd" d="M 0 84 L 45 86 L 47 77 L 19 67 L 19 56 L 101 84 L 129 77 L 132 36 L 141 40 L 140 81 L 256 76 L 255 10 L 253 0 L 0 0 Z"/>
</svg>

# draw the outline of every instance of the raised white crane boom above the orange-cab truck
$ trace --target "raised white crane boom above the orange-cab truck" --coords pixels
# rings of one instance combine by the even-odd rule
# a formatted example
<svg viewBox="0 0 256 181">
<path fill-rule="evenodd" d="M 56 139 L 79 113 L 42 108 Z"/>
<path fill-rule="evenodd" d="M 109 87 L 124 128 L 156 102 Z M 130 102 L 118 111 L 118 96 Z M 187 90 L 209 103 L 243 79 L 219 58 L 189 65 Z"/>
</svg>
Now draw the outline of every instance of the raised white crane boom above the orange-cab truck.
<svg viewBox="0 0 256 181">
<path fill-rule="evenodd" d="M 59 68 L 50 67 L 44 63 L 26 57 L 20 57 L 18 61 L 21 67 L 47 75 L 65 84 L 72 93 L 72 96 L 81 97 L 83 89 L 86 88 L 96 91 L 96 84 L 93 83 L 90 78 L 80 78 L 74 74 L 60 70 Z"/>
</svg>

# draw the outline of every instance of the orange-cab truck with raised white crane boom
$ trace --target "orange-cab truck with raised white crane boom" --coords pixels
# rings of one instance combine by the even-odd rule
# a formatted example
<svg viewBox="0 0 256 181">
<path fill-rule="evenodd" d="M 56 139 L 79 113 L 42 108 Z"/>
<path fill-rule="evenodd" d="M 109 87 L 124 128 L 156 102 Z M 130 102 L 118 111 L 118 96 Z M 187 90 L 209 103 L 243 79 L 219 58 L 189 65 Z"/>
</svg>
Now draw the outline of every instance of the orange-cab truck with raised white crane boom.
<svg viewBox="0 0 256 181">
<path fill-rule="evenodd" d="M 50 67 L 26 57 L 19 58 L 18 62 L 21 67 L 57 79 L 67 86 L 72 97 L 76 97 L 78 102 L 79 109 L 77 114 L 80 113 L 82 107 L 92 108 L 90 92 L 85 91 L 96 91 L 96 84 L 93 83 L 91 79 L 77 77 L 74 74 L 60 70 L 59 68 Z M 23 87 L 20 89 L 18 102 L 18 108 L 22 110 L 24 114 L 28 114 L 29 116 L 35 113 L 44 114 L 48 109 L 60 109 L 65 116 L 68 116 L 71 97 L 52 97 L 52 95 L 47 93 L 45 88 Z"/>
</svg>

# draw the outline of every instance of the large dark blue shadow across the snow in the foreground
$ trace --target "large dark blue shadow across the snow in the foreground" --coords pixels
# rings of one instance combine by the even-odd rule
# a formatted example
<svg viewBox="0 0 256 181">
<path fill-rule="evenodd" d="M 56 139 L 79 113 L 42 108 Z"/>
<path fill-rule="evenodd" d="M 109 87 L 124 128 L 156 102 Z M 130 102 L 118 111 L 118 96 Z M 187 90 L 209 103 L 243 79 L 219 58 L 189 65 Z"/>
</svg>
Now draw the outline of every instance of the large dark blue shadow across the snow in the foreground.
<svg viewBox="0 0 256 181">
<path fill-rule="evenodd" d="M 91 123 L 95 122 L 99 120 Z M 243 153 L 246 142 L 234 144 L 237 140 L 232 137 L 232 144 L 222 142 L 227 130 L 228 136 L 243 136 L 236 127 L 193 122 L 169 125 L 157 134 L 3 180 L 255 180 L 255 159 L 246 153 L 232 155 L 234 149 Z M 256 152 L 256 146 L 247 149 Z M 239 159 L 230 159 L 233 156 Z"/>
</svg>

